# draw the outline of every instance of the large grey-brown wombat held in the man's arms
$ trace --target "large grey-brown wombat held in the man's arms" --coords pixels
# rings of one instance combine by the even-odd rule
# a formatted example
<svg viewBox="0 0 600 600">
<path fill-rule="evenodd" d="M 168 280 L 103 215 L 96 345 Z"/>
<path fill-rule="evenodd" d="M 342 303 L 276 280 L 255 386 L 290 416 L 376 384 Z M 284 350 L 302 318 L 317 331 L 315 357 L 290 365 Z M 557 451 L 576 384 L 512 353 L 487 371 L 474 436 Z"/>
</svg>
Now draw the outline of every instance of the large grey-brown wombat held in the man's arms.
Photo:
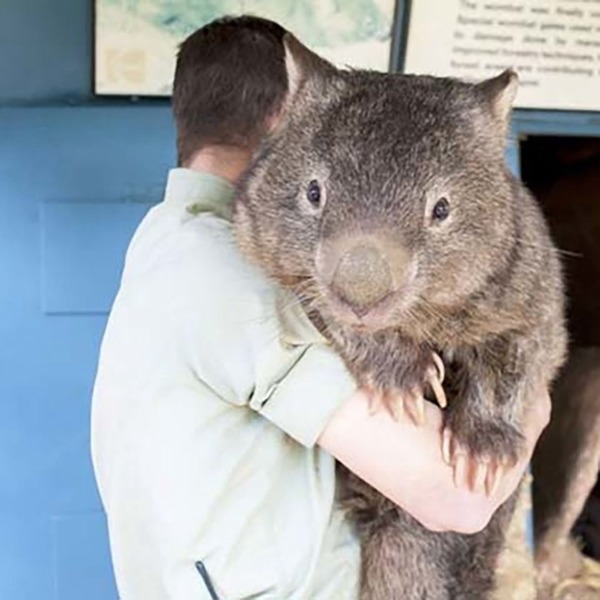
<svg viewBox="0 0 600 600">
<path fill-rule="evenodd" d="M 443 403 L 441 358 L 444 455 L 457 484 L 491 492 L 566 346 L 557 251 L 505 165 L 516 75 L 338 70 L 290 35 L 285 46 L 282 117 L 235 201 L 240 248 L 391 409 L 419 422 L 423 393 Z M 342 477 L 363 598 L 487 597 L 512 501 L 478 534 L 433 533 Z"/>
</svg>

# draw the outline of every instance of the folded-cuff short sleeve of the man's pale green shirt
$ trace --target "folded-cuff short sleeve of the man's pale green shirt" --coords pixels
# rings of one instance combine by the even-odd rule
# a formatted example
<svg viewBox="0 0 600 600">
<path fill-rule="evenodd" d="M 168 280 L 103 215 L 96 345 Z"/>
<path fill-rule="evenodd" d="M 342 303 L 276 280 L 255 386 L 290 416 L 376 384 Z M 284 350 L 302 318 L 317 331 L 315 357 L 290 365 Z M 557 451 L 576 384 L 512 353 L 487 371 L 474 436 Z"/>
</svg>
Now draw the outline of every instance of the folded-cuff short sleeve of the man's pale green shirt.
<svg viewBox="0 0 600 600">
<path fill-rule="evenodd" d="M 249 406 L 310 448 L 351 396 L 354 379 L 298 304 L 286 298 L 282 309 L 278 286 L 233 244 L 217 249 L 218 263 L 198 261 L 207 252 L 199 248 L 179 276 L 170 267 L 174 284 L 162 284 L 176 290 L 196 375 L 222 401 Z"/>
</svg>

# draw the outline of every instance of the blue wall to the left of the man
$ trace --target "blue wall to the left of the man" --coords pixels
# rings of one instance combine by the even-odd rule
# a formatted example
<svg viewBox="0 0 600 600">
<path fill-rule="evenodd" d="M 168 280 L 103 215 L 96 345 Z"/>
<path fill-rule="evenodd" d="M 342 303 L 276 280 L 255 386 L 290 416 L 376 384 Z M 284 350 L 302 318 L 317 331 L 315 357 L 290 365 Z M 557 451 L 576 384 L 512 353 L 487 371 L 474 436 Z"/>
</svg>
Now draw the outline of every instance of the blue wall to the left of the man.
<svg viewBox="0 0 600 600">
<path fill-rule="evenodd" d="M 0 2 L 0 598 L 116 598 L 90 397 L 170 107 L 91 96 L 91 0 Z"/>
</svg>

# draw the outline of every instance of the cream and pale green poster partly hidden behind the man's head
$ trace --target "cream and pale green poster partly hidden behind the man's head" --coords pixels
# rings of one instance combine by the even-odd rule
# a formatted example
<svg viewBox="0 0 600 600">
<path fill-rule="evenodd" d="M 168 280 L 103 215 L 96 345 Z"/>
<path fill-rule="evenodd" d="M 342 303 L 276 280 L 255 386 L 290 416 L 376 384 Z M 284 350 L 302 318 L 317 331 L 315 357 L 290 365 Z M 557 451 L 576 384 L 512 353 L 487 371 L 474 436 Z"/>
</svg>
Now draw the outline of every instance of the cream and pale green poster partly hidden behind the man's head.
<svg viewBox="0 0 600 600">
<path fill-rule="evenodd" d="M 168 96 L 179 44 L 224 15 L 273 19 L 346 66 L 387 71 L 395 0 L 95 0 L 95 92 Z"/>
</svg>

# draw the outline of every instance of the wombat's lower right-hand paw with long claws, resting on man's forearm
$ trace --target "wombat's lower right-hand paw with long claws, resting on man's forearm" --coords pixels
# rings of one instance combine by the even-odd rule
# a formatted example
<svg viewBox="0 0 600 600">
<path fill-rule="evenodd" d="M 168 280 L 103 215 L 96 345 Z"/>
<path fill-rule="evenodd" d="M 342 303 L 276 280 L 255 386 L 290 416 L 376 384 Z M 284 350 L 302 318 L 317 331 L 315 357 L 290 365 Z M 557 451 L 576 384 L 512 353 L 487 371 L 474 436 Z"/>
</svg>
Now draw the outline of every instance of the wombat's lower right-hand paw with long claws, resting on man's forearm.
<svg viewBox="0 0 600 600">
<path fill-rule="evenodd" d="M 454 484 L 476 493 L 496 493 L 502 477 L 517 463 L 523 437 L 511 425 L 449 418 L 442 434 L 442 455 L 454 470 Z"/>
</svg>

